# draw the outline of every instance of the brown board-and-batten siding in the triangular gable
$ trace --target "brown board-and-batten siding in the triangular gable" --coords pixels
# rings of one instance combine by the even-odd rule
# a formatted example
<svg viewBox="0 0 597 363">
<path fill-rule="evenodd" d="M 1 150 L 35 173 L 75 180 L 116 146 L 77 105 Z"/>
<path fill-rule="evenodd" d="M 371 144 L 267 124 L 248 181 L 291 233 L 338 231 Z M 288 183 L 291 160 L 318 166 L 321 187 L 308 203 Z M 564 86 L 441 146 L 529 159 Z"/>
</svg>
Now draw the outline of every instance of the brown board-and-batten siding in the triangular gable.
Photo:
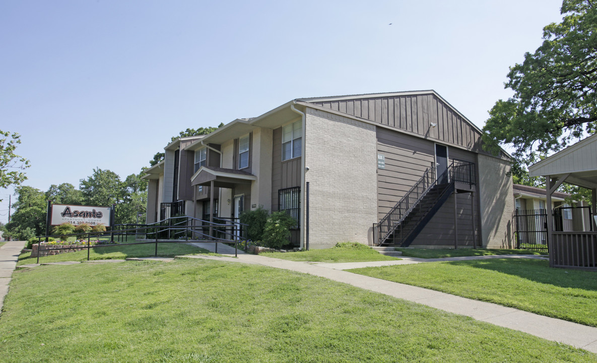
<svg viewBox="0 0 597 363">
<path fill-rule="evenodd" d="M 414 133 L 425 139 L 481 151 L 479 130 L 435 93 L 370 98 L 361 96 L 312 103 Z M 431 124 L 437 126 L 431 127 Z"/>
</svg>

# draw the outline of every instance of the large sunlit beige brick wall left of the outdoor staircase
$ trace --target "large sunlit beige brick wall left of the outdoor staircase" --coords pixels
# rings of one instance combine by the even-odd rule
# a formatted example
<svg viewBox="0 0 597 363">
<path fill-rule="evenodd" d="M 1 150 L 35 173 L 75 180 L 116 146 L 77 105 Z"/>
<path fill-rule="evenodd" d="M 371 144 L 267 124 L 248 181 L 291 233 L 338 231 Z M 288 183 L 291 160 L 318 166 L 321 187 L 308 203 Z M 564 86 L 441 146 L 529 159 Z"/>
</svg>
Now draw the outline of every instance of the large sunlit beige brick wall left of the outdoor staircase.
<svg viewBox="0 0 597 363">
<path fill-rule="evenodd" d="M 310 248 L 367 244 L 377 222 L 375 126 L 310 108 L 305 126 Z"/>
</svg>

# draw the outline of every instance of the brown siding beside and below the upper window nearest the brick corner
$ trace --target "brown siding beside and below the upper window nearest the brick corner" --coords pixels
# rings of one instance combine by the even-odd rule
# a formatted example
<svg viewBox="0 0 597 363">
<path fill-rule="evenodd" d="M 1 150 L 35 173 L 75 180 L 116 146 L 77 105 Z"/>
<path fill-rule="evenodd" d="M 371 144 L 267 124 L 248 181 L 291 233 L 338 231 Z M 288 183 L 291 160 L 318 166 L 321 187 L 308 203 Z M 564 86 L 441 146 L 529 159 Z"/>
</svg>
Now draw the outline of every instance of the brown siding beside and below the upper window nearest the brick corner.
<svg viewBox="0 0 597 363">
<path fill-rule="evenodd" d="M 272 211 L 278 210 L 278 190 L 300 186 L 301 158 L 282 161 L 282 128 L 272 134 Z"/>
</svg>

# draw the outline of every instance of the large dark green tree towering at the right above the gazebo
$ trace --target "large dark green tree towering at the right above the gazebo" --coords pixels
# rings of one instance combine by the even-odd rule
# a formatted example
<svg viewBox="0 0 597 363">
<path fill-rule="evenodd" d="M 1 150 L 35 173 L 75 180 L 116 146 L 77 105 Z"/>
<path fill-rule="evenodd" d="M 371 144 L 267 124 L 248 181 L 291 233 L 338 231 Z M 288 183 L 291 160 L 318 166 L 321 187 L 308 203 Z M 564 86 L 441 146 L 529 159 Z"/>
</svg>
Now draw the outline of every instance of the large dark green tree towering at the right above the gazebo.
<svg viewBox="0 0 597 363">
<path fill-rule="evenodd" d="M 564 0 L 561 14 L 535 53 L 510 67 L 514 95 L 496 102 L 483 128 L 485 149 L 513 146 L 521 171 L 597 130 L 597 2 Z"/>
</svg>

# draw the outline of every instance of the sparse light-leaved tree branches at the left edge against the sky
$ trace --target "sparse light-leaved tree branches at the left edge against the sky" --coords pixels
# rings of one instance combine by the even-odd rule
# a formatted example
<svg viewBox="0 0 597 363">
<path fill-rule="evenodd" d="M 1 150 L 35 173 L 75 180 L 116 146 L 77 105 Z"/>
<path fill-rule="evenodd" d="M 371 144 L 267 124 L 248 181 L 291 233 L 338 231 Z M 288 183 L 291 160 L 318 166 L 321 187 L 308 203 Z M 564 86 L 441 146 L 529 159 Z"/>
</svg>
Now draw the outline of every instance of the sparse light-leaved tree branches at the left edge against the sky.
<svg viewBox="0 0 597 363">
<path fill-rule="evenodd" d="M 0 130 L 0 187 L 20 185 L 27 179 L 23 171 L 29 168 L 29 160 L 14 153 L 21 143 L 20 135 Z M 2 201 L 2 199 L 0 199 Z"/>
</svg>

